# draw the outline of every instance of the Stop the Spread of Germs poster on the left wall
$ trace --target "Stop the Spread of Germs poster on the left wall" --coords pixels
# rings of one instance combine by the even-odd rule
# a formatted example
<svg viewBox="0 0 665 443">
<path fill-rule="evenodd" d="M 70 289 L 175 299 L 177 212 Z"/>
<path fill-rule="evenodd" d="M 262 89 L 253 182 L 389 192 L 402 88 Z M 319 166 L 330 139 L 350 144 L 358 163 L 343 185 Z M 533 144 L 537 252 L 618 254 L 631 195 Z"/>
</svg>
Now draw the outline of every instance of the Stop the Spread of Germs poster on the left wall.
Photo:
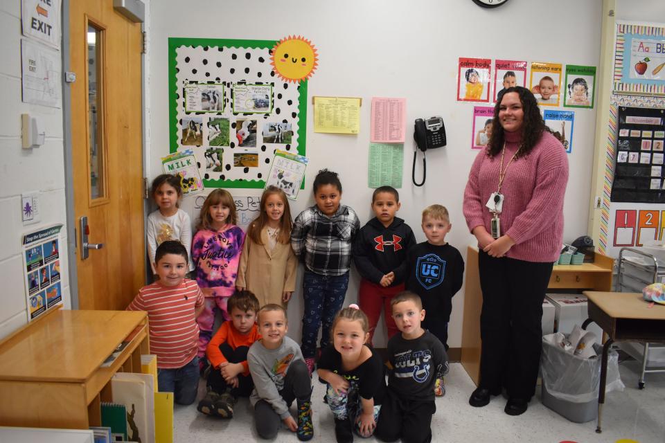
<svg viewBox="0 0 665 443">
<path fill-rule="evenodd" d="M 62 303 L 60 229 L 62 224 L 41 228 L 21 239 L 28 322 Z"/>
</svg>

